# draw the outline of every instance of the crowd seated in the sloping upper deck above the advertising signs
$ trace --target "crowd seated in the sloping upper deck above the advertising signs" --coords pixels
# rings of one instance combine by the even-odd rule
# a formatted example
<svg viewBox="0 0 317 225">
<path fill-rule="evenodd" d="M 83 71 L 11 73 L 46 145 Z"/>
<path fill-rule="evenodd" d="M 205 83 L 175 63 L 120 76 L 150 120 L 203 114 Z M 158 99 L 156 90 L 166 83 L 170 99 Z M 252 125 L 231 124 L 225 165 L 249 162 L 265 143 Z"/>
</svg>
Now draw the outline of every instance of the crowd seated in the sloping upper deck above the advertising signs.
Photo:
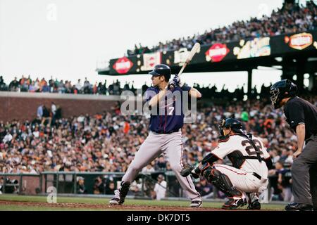
<svg viewBox="0 0 317 225">
<path fill-rule="evenodd" d="M 147 46 L 135 45 L 135 49 L 128 50 L 128 56 L 151 53 L 156 51 L 176 51 L 181 48 L 192 49 L 194 43 L 215 44 L 217 42 L 239 41 L 255 37 L 268 37 L 287 33 L 304 32 L 317 29 L 317 6 L 313 1 L 308 1 L 306 6 L 295 3 L 285 3 L 282 8 L 272 11 L 271 16 L 263 15 L 262 18 L 251 18 L 247 21 L 237 21 L 226 27 L 219 27 L 205 31 L 204 34 L 194 34 L 193 37 L 182 37 L 159 42 L 151 49 Z"/>
</svg>

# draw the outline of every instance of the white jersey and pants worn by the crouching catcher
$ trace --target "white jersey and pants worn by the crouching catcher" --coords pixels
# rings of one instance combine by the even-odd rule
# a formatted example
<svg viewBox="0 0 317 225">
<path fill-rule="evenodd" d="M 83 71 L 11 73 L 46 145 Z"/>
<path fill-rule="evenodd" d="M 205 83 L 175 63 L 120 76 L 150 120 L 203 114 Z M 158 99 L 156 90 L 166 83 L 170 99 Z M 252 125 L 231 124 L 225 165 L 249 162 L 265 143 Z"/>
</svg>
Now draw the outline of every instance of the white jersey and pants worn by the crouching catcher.
<svg viewBox="0 0 317 225">
<path fill-rule="evenodd" d="M 254 137 L 253 141 L 259 150 L 261 162 L 257 159 L 256 151 L 250 141 L 240 135 L 232 135 L 220 141 L 211 154 L 221 160 L 228 156 L 232 167 L 228 165 L 213 165 L 213 167 L 227 175 L 238 190 L 246 193 L 261 193 L 268 186 L 268 167 L 264 160 L 270 158 L 270 155 L 261 139 Z"/>
</svg>

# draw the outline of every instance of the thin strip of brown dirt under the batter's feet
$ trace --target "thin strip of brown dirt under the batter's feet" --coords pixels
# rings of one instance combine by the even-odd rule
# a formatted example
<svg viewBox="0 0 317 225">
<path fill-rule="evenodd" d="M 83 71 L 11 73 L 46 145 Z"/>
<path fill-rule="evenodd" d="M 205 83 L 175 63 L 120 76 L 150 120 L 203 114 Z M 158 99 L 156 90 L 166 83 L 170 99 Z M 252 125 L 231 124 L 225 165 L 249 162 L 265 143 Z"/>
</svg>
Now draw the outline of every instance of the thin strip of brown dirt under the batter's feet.
<svg viewBox="0 0 317 225">
<path fill-rule="evenodd" d="M 132 211 L 220 211 L 218 208 L 201 207 L 175 207 L 175 206 L 144 206 L 144 205 L 119 205 L 110 206 L 106 204 L 87 204 L 87 203 L 32 203 L 20 201 L 0 200 L 0 205 L 23 205 L 25 207 L 58 207 L 58 208 L 82 208 L 82 209 L 98 209 L 98 210 L 132 210 Z"/>
</svg>

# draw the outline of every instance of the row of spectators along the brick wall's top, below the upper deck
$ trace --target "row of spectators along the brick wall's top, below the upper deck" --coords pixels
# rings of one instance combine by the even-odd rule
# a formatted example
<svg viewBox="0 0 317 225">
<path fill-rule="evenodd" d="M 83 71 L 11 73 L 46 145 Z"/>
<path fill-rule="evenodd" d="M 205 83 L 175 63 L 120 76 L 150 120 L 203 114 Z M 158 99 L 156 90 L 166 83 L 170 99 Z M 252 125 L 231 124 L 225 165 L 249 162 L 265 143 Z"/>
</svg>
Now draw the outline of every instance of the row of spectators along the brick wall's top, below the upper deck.
<svg viewBox="0 0 317 225">
<path fill-rule="evenodd" d="M 261 86 L 260 91 L 256 89 L 254 86 L 251 89 L 251 93 L 249 94 L 248 98 L 251 99 L 259 99 L 265 96 L 268 96 L 268 92 L 271 85 L 265 86 L 264 84 Z M 246 94 L 246 90 L 244 89 L 245 84 L 243 86 L 237 86 L 235 91 L 228 91 L 225 85 L 222 87 L 221 90 L 218 90 L 216 84 L 209 84 L 208 86 L 200 86 L 199 84 L 194 84 L 193 87 L 201 92 L 203 98 L 213 98 L 218 99 L 222 98 L 227 101 L 242 101 L 245 100 L 244 96 Z M 147 83 L 145 82 L 141 89 L 142 93 L 149 88 Z M 134 82 L 130 84 L 130 82 L 125 82 L 122 86 L 118 79 L 116 82 L 113 81 L 112 84 L 107 86 L 107 80 L 105 79 L 104 84 L 102 82 L 97 82 L 92 85 L 90 84 L 87 77 L 85 81 L 82 83 L 81 79 L 77 80 L 76 84 L 71 84 L 70 81 L 58 79 L 49 79 L 49 82 L 46 81 L 45 78 L 41 80 L 39 78 L 32 80 L 30 76 L 27 78 L 22 76 L 20 79 L 13 79 L 8 85 L 4 82 L 2 76 L 0 76 L 0 91 L 21 91 L 21 92 L 42 92 L 42 93 L 59 93 L 59 94 L 98 94 L 98 95 L 120 95 L 123 91 L 132 91 L 135 95 L 137 94 L 137 89 L 134 87 Z M 317 90 L 308 90 L 303 89 L 301 90 L 301 94 L 309 95 Z"/>
</svg>

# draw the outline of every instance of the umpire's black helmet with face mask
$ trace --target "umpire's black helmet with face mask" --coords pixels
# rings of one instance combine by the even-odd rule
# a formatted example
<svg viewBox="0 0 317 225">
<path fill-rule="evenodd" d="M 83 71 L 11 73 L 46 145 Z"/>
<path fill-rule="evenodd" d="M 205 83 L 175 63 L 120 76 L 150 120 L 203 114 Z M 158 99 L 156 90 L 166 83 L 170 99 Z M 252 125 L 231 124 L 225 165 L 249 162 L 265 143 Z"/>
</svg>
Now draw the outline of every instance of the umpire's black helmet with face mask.
<svg viewBox="0 0 317 225">
<path fill-rule="evenodd" d="M 283 98 L 294 97 L 297 94 L 297 86 L 290 79 L 282 79 L 271 86 L 271 101 L 274 108 L 280 108 Z"/>
</svg>

